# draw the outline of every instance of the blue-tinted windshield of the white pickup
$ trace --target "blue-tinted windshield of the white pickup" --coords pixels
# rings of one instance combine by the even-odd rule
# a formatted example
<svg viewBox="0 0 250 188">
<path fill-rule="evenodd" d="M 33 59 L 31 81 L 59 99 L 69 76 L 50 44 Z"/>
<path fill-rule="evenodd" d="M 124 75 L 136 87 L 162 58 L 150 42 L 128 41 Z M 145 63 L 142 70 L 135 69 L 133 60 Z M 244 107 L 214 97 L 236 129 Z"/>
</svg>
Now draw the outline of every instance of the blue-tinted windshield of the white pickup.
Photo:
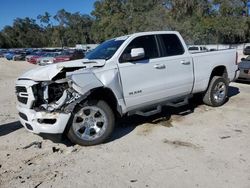
<svg viewBox="0 0 250 188">
<path fill-rule="evenodd" d="M 87 59 L 110 59 L 125 40 L 112 39 L 100 44 L 86 55 Z"/>
</svg>

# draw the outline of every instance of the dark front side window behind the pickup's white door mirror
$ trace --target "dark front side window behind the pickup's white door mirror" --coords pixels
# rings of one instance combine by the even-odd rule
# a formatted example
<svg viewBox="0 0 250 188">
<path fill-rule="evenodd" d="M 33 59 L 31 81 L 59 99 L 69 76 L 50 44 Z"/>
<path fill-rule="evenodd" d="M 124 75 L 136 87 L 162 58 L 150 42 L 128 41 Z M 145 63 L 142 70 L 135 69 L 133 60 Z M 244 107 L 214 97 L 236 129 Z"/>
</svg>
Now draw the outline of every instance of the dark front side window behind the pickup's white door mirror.
<svg viewBox="0 0 250 188">
<path fill-rule="evenodd" d="M 157 50 L 156 40 L 154 35 L 141 36 L 133 39 L 130 44 L 126 47 L 124 52 L 121 55 L 120 62 L 122 57 L 128 56 L 131 53 L 133 48 L 143 48 L 145 51 L 145 57 L 143 59 L 153 59 L 158 58 L 159 53 Z"/>
</svg>

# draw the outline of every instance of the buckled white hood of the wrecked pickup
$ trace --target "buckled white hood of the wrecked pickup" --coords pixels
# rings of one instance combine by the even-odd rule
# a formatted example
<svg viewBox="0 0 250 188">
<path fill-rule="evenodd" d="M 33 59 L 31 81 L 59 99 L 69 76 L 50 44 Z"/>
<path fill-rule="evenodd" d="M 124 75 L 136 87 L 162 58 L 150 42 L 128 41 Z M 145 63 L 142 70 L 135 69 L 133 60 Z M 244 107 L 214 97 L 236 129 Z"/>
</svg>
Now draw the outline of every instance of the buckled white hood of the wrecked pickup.
<svg viewBox="0 0 250 188">
<path fill-rule="evenodd" d="M 56 75 L 62 72 L 73 72 L 75 70 L 83 69 L 83 68 L 93 68 L 93 67 L 102 67 L 106 63 L 105 60 L 88 60 L 88 59 L 80 59 L 74 61 L 67 61 L 63 63 L 56 63 L 47 66 L 41 66 L 30 71 L 24 73 L 19 77 L 20 79 L 28 79 L 34 81 L 50 81 Z"/>
</svg>

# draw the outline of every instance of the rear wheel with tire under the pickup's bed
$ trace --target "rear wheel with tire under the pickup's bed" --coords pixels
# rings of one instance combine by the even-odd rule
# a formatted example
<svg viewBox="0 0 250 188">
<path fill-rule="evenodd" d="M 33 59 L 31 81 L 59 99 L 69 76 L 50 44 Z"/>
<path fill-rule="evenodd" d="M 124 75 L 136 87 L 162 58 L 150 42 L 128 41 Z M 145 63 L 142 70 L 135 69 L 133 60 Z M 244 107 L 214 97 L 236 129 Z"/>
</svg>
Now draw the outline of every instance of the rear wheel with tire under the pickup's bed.
<svg viewBox="0 0 250 188">
<path fill-rule="evenodd" d="M 228 81 L 224 77 L 214 76 L 203 95 L 203 102 L 212 107 L 223 105 L 227 99 L 228 85 Z"/>
</svg>

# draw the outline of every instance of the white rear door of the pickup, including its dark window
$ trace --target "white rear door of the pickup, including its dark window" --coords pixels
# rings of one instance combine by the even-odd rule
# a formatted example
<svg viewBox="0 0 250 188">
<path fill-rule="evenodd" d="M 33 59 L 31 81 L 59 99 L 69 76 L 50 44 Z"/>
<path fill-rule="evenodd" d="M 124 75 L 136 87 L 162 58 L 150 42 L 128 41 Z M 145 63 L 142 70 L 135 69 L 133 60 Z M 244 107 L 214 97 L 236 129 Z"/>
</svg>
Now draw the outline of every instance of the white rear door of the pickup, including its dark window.
<svg viewBox="0 0 250 188">
<path fill-rule="evenodd" d="M 158 35 L 160 61 L 166 66 L 164 75 L 166 98 L 188 95 L 193 88 L 194 74 L 191 55 L 185 51 L 176 34 Z"/>
</svg>

